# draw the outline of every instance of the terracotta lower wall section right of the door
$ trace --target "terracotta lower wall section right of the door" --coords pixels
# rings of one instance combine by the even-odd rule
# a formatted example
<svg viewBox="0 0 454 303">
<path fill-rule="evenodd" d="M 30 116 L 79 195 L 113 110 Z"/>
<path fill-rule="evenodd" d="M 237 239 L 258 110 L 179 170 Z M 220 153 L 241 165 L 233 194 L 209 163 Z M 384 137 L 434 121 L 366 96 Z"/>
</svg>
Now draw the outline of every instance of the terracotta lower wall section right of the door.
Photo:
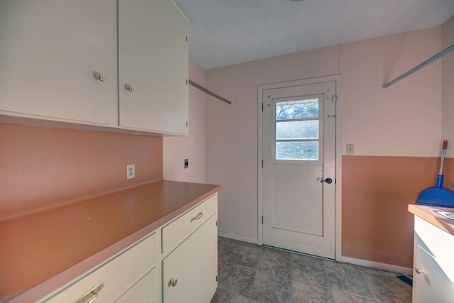
<svg viewBox="0 0 454 303">
<path fill-rule="evenodd" d="M 342 255 L 411 268 L 408 205 L 435 186 L 439 158 L 344 155 L 342 165 Z"/>
</svg>

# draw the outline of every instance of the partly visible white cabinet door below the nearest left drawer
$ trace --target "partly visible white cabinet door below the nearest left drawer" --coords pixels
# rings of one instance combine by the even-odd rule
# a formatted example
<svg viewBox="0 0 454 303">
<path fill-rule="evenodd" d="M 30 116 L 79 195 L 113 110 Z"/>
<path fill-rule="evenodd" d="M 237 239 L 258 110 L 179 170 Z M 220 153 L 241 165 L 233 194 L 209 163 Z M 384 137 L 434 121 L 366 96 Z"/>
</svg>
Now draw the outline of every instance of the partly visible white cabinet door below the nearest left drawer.
<svg viewBox="0 0 454 303">
<path fill-rule="evenodd" d="M 123 294 L 116 303 L 158 303 L 160 302 L 160 285 L 157 268 L 153 268 Z"/>
</svg>

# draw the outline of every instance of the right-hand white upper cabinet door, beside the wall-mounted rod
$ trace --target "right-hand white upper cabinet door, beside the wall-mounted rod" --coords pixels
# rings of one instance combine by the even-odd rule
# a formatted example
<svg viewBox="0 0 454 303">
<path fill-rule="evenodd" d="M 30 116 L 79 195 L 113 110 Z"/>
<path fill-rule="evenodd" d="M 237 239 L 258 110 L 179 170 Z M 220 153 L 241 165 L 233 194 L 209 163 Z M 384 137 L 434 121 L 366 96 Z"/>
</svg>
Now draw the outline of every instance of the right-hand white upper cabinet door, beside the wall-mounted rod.
<svg viewBox="0 0 454 303">
<path fill-rule="evenodd" d="M 187 134 L 187 22 L 170 0 L 118 1 L 119 125 Z"/>
</svg>

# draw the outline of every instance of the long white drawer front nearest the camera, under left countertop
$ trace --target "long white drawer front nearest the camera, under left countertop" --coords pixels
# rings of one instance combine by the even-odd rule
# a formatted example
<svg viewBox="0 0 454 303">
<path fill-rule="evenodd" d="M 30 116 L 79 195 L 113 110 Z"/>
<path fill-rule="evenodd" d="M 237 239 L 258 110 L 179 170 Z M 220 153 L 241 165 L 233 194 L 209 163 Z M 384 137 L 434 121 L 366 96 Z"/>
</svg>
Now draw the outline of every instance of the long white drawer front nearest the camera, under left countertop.
<svg viewBox="0 0 454 303">
<path fill-rule="evenodd" d="M 99 283 L 104 283 L 104 287 L 96 303 L 114 302 L 155 266 L 157 244 L 157 235 L 153 233 L 40 302 L 75 302 Z"/>
</svg>

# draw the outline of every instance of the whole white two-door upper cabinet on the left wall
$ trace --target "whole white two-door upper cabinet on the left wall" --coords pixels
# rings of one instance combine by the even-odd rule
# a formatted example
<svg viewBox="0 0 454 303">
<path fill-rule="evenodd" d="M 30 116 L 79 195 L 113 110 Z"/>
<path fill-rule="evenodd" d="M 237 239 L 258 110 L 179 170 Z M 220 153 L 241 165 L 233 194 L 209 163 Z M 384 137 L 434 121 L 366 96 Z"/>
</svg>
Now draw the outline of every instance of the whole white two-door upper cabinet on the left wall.
<svg viewBox="0 0 454 303">
<path fill-rule="evenodd" d="M 186 32 L 172 0 L 0 1 L 0 114 L 186 135 Z"/>
</svg>

